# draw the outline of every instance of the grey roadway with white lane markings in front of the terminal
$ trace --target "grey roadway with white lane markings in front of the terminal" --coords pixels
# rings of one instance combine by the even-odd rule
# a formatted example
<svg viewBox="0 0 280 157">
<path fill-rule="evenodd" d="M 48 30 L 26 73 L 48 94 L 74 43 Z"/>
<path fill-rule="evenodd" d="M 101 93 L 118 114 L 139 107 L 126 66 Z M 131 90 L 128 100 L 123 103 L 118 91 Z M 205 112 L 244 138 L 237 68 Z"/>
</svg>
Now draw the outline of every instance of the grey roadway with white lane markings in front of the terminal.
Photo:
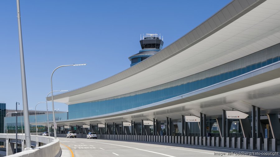
<svg viewBox="0 0 280 157">
<path fill-rule="evenodd" d="M 59 137 L 59 140 L 60 140 L 60 147 L 62 149 L 61 157 L 66 157 L 66 156 L 67 157 L 71 157 L 71 156 L 72 157 L 265 156 L 265 155 L 258 155 L 258 154 L 244 155 L 245 153 L 252 153 L 254 151 L 229 150 L 229 149 L 210 148 L 210 147 L 201 147 L 201 146 L 186 146 L 186 145 L 158 144 L 158 143 L 149 143 L 149 142 L 114 141 L 114 140 L 83 139 L 83 138 L 69 139 L 63 137 Z M 230 154 L 231 152 L 232 154 Z M 236 153 L 243 153 L 243 154 L 236 155 Z"/>
</svg>

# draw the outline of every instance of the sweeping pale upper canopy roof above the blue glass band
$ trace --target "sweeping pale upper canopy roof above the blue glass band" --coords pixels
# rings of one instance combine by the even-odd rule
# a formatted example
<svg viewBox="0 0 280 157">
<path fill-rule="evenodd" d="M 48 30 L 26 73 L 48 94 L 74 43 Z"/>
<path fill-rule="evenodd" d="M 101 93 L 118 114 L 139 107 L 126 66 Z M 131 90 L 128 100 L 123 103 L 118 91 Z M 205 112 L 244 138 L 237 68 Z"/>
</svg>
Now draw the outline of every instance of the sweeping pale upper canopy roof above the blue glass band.
<svg viewBox="0 0 280 157">
<path fill-rule="evenodd" d="M 279 31 L 280 1 L 234 0 L 155 55 L 54 101 L 76 104 L 168 83 L 280 43 Z"/>
</svg>

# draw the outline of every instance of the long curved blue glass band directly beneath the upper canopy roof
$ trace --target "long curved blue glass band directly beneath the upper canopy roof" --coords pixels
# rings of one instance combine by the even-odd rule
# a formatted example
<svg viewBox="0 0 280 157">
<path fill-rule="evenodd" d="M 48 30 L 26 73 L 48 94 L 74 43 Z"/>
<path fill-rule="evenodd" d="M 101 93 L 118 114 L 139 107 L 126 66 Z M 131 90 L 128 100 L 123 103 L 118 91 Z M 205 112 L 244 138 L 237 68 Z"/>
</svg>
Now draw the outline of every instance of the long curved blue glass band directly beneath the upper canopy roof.
<svg viewBox="0 0 280 157">
<path fill-rule="evenodd" d="M 280 60 L 280 44 L 215 68 L 124 95 L 68 106 L 69 119 L 109 114 L 156 103 L 234 78 Z"/>
</svg>

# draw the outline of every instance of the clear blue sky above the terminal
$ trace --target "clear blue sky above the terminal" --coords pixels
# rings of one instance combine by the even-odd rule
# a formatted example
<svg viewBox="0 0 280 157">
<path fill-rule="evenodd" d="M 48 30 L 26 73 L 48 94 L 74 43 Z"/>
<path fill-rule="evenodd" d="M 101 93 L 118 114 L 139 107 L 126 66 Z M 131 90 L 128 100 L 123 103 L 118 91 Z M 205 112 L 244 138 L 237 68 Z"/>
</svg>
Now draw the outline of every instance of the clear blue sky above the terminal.
<svg viewBox="0 0 280 157">
<path fill-rule="evenodd" d="M 157 33 L 163 47 L 208 19 L 231 0 L 21 0 L 28 107 L 51 91 L 73 90 L 117 74 L 141 49 L 140 34 Z M 0 1 L 0 102 L 22 109 L 16 0 Z M 55 103 L 55 109 L 68 110 Z M 46 110 L 40 104 L 37 110 Z M 49 103 L 49 110 L 52 110 Z"/>
</svg>

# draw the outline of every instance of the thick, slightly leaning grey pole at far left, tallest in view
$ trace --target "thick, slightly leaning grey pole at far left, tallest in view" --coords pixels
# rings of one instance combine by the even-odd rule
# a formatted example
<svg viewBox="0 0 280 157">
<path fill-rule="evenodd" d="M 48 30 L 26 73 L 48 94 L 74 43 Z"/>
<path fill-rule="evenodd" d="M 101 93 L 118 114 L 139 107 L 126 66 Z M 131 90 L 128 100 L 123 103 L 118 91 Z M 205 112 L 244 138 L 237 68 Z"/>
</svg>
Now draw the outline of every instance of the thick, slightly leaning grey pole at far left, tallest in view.
<svg viewBox="0 0 280 157">
<path fill-rule="evenodd" d="M 22 102 L 23 102 L 23 116 L 24 116 L 24 128 L 25 128 L 25 144 L 26 150 L 31 149 L 31 138 L 30 138 L 30 124 L 28 116 L 28 102 L 27 102 L 27 90 L 26 90 L 26 77 L 25 77 L 25 65 L 23 56 L 23 44 L 22 44 L 22 34 L 21 34 L 21 13 L 20 13 L 20 3 L 16 0 L 17 8 L 17 23 L 18 23 L 18 38 L 19 38 L 19 48 L 20 48 L 20 60 L 21 60 L 21 90 L 22 90 Z"/>
</svg>

